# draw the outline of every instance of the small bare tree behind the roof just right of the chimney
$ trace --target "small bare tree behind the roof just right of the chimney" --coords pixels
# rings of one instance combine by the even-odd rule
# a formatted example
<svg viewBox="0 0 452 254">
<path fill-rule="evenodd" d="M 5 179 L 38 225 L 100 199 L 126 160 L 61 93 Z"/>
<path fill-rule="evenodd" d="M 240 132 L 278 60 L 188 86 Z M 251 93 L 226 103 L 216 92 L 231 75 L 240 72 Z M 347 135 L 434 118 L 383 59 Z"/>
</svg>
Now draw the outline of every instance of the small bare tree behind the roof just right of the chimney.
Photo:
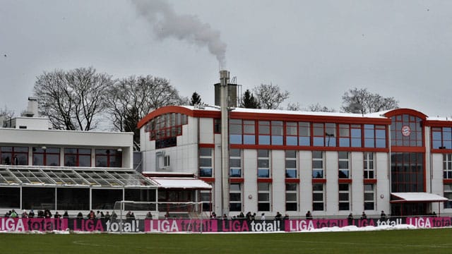
<svg viewBox="0 0 452 254">
<path fill-rule="evenodd" d="M 279 109 L 280 104 L 289 97 L 289 92 L 281 92 L 278 85 L 261 84 L 253 88 L 257 101 L 262 109 Z"/>
</svg>

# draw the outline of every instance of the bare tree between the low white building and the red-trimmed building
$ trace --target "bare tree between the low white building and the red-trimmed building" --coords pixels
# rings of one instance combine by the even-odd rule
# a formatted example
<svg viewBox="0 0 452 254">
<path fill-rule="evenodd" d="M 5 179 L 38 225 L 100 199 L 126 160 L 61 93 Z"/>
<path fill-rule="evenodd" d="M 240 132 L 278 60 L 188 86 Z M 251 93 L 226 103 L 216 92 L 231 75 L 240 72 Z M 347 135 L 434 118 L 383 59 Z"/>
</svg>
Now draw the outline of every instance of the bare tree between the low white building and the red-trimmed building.
<svg viewBox="0 0 452 254">
<path fill-rule="evenodd" d="M 136 150 L 140 143 L 138 121 L 160 107 L 189 102 L 188 98 L 179 96 L 179 92 L 169 85 L 168 80 L 151 75 L 118 80 L 109 87 L 106 95 L 107 113 L 111 116 L 114 128 L 117 131 L 133 132 Z"/>
</svg>

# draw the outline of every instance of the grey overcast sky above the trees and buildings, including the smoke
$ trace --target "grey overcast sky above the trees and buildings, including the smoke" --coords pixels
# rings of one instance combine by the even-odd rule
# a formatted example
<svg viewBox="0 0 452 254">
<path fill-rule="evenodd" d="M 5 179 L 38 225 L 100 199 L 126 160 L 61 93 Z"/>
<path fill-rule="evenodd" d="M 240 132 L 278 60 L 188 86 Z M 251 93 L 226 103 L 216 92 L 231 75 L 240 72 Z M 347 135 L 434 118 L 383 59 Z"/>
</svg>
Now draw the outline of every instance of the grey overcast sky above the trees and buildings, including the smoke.
<svg viewBox="0 0 452 254">
<path fill-rule="evenodd" d="M 0 108 L 16 116 L 37 75 L 88 66 L 213 104 L 218 59 L 243 92 L 273 83 L 285 104 L 338 111 L 366 87 L 452 116 L 452 1 L 0 0 Z"/>
</svg>

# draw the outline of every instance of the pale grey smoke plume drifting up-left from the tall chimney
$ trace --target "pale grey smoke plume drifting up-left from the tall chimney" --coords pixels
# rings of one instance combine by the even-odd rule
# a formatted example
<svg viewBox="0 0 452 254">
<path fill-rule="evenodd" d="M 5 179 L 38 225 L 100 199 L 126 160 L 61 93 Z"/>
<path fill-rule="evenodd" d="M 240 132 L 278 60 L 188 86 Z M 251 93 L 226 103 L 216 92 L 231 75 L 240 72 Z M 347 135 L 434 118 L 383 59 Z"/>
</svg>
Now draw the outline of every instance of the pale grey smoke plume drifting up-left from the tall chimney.
<svg viewBox="0 0 452 254">
<path fill-rule="evenodd" d="M 218 59 L 220 68 L 225 67 L 226 44 L 222 42 L 218 30 L 202 23 L 197 16 L 175 13 L 166 1 L 132 0 L 132 3 L 138 14 L 153 26 L 153 32 L 159 39 L 173 37 L 199 47 L 207 46 L 209 52 Z"/>
</svg>

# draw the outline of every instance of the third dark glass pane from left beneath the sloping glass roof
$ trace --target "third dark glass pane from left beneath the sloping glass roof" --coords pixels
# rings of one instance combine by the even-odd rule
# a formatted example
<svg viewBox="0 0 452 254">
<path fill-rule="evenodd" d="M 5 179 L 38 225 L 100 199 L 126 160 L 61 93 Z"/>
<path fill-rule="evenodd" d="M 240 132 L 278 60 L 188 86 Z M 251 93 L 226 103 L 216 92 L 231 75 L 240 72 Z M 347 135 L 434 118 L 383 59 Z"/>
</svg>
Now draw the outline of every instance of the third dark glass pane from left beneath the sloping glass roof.
<svg viewBox="0 0 452 254">
<path fill-rule="evenodd" d="M 57 210 L 90 210 L 90 189 L 57 188 Z"/>
</svg>

